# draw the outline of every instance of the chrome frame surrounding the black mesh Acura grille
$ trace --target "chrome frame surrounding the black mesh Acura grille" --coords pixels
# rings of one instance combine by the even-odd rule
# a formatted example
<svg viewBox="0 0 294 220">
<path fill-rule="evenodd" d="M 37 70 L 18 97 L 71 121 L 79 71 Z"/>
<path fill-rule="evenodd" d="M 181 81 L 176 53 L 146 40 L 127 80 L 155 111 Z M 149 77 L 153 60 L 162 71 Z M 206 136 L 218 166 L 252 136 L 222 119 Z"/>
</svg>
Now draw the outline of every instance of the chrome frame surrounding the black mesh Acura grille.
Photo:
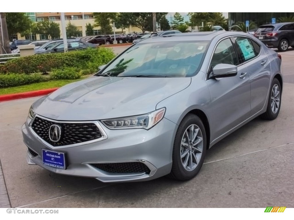
<svg viewBox="0 0 294 220">
<path fill-rule="evenodd" d="M 52 146 L 51 144 L 47 143 L 46 141 L 44 141 L 33 129 L 32 129 L 32 124 L 34 122 L 34 120 L 36 119 L 36 117 L 39 117 L 41 119 L 47 120 L 47 121 L 52 121 L 54 123 L 93 123 L 95 124 L 100 133 L 101 133 L 101 138 L 92 140 L 92 141 L 85 141 L 82 143 L 77 143 L 77 144 L 70 144 L 70 145 L 64 145 L 64 146 Z M 49 119 L 46 117 L 43 117 L 41 115 L 36 114 L 35 117 L 31 120 L 31 122 L 29 123 L 29 131 L 39 140 L 41 141 L 44 145 L 46 145 L 47 147 L 51 148 L 51 149 L 64 149 L 64 148 L 69 148 L 69 147 L 75 147 L 75 146 L 80 146 L 80 145 L 85 145 L 85 144 L 90 144 L 90 143 L 94 143 L 94 142 L 98 142 L 98 141 L 103 141 L 105 139 L 108 138 L 106 132 L 104 131 L 104 129 L 102 128 L 102 126 L 99 124 L 98 121 L 57 121 L 57 120 L 53 120 L 53 119 Z"/>
</svg>

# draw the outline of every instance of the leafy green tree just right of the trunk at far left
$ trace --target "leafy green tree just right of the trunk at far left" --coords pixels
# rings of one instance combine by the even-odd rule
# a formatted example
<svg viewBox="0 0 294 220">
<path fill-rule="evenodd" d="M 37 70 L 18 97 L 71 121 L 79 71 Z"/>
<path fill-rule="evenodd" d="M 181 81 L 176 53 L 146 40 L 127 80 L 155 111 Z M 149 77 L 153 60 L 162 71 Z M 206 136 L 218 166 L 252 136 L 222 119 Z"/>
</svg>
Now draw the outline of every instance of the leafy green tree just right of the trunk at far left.
<svg viewBox="0 0 294 220">
<path fill-rule="evenodd" d="M 24 12 L 6 12 L 6 23 L 9 37 L 12 39 L 17 33 L 29 30 L 30 19 Z"/>
</svg>

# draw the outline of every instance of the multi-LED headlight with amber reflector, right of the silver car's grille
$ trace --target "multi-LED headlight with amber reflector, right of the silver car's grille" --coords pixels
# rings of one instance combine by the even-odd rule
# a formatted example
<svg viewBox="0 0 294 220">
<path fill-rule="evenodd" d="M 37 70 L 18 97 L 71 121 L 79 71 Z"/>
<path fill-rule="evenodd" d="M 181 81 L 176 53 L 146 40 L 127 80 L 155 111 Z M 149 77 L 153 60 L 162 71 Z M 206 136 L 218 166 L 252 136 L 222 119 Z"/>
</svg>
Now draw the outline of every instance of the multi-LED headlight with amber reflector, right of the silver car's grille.
<svg viewBox="0 0 294 220">
<path fill-rule="evenodd" d="M 106 119 L 102 120 L 102 123 L 109 129 L 144 128 L 148 130 L 163 119 L 165 110 L 162 108 L 144 115 Z"/>
</svg>

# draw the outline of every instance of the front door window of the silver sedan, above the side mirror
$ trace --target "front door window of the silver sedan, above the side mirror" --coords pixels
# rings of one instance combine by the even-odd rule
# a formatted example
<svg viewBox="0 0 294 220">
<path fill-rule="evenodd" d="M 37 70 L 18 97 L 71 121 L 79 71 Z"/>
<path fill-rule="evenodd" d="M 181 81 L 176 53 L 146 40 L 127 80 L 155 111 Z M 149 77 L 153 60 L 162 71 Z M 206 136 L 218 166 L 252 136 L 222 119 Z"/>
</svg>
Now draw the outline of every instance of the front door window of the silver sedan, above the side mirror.
<svg viewBox="0 0 294 220">
<path fill-rule="evenodd" d="M 211 70 L 220 63 L 238 65 L 237 55 L 229 38 L 221 41 L 216 46 L 216 50 L 214 51 L 211 59 Z"/>
</svg>

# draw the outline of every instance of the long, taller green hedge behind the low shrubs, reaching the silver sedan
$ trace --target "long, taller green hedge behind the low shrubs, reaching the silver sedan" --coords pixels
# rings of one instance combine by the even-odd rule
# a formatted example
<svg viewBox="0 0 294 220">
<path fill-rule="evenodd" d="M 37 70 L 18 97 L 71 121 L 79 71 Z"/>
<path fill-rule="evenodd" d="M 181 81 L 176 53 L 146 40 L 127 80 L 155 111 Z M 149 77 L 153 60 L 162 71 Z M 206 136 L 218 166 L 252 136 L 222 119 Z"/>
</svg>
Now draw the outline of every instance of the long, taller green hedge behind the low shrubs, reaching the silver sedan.
<svg viewBox="0 0 294 220">
<path fill-rule="evenodd" d="M 62 67 L 76 67 L 79 70 L 98 71 L 100 65 L 108 63 L 115 57 L 109 48 L 89 48 L 69 53 L 38 54 L 9 60 L 0 66 L 0 74 L 31 74 L 49 72 Z"/>
</svg>

